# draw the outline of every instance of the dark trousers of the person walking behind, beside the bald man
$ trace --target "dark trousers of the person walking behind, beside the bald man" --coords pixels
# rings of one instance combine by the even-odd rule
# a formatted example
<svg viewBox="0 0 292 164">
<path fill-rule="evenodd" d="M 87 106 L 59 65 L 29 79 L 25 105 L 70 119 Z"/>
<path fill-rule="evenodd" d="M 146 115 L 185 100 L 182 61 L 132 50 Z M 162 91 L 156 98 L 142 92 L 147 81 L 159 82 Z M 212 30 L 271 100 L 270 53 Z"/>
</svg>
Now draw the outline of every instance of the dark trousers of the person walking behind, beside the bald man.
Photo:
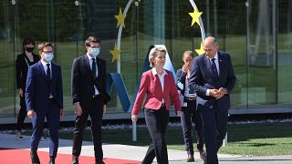
<svg viewBox="0 0 292 164">
<path fill-rule="evenodd" d="M 186 100 L 187 107 L 182 108 L 181 122 L 183 138 L 188 155 L 193 155 L 193 132 L 192 122 L 197 134 L 197 149 L 203 151 L 203 120 L 201 113 L 196 109 L 195 100 Z"/>
</svg>

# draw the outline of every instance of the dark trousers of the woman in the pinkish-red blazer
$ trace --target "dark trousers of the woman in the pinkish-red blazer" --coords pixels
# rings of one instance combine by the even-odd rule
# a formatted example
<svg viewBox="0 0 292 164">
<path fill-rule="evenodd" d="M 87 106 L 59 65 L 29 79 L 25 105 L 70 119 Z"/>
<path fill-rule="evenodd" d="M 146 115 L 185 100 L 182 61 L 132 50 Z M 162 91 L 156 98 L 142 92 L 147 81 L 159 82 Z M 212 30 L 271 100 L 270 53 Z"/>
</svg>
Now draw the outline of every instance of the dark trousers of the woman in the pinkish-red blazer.
<svg viewBox="0 0 292 164">
<path fill-rule="evenodd" d="M 158 110 L 145 108 L 144 115 L 148 131 L 152 138 L 152 142 L 141 163 L 152 163 L 153 159 L 156 157 L 157 163 L 167 164 L 168 155 L 164 136 L 170 113 L 168 110 L 166 110 L 165 107 L 162 107 Z"/>
</svg>

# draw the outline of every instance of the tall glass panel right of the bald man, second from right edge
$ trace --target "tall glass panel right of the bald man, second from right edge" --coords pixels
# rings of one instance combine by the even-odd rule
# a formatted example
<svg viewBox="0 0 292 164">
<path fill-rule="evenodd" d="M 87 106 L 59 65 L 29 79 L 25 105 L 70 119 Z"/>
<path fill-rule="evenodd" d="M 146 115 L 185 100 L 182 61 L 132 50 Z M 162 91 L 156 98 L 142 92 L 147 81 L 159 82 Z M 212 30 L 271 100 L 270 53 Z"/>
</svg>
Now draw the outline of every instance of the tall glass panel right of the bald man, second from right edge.
<svg viewBox="0 0 292 164">
<path fill-rule="evenodd" d="M 273 1 L 249 1 L 248 105 L 276 103 L 275 10 Z"/>
</svg>

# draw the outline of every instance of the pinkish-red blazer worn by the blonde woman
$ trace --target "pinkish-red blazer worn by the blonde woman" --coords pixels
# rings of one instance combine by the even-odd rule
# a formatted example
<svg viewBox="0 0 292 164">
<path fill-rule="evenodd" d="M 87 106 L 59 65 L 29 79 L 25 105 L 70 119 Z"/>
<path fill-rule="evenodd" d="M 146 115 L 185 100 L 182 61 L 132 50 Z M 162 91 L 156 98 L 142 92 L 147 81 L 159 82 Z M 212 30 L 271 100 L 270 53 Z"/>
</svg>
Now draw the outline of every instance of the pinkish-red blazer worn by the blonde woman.
<svg viewBox="0 0 292 164">
<path fill-rule="evenodd" d="M 158 75 L 153 76 L 151 70 L 148 70 L 142 74 L 140 88 L 135 100 L 135 104 L 131 111 L 133 115 L 139 115 L 145 94 L 147 97 L 144 103 L 144 108 L 151 108 L 155 110 L 160 109 L 162 107 L 163 97 L 165 108 L 167 110 L 169 110 L 171 107 L 170 99 L 172 99 L 172 103 L 176 110 L 182 110 L 179 94 L 175 86 L 172 72 L 166 69 L 164 70 L 167 74 L 164 76 L 163 93 L 162 84 Z"/>
</svg>

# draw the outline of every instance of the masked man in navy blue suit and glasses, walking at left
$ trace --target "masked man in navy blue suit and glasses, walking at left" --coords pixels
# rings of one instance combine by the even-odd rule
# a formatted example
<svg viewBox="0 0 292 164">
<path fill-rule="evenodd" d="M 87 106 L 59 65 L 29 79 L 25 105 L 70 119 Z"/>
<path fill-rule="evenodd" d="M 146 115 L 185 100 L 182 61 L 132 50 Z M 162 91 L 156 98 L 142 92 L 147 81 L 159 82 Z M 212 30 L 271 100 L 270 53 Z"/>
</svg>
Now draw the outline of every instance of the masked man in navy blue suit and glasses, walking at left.
<svg viewBox="0 0 292 164">
<path fill-rule="evenodd" d="M 50 136 L 49 163 L 54 164 L 57 157 L 59 120 L 64 116 L 62 74 L 61 67 L 51 62 L 54 57 L 53 45 L 42 43 L 38 45 L 38 50 L 41 60 L 28 68 L 26 78 L 26 110 L 33 124 L 30 156 L 33 164 L 40 163 L 36 150 L 47 118 Z"/>
</svg>

